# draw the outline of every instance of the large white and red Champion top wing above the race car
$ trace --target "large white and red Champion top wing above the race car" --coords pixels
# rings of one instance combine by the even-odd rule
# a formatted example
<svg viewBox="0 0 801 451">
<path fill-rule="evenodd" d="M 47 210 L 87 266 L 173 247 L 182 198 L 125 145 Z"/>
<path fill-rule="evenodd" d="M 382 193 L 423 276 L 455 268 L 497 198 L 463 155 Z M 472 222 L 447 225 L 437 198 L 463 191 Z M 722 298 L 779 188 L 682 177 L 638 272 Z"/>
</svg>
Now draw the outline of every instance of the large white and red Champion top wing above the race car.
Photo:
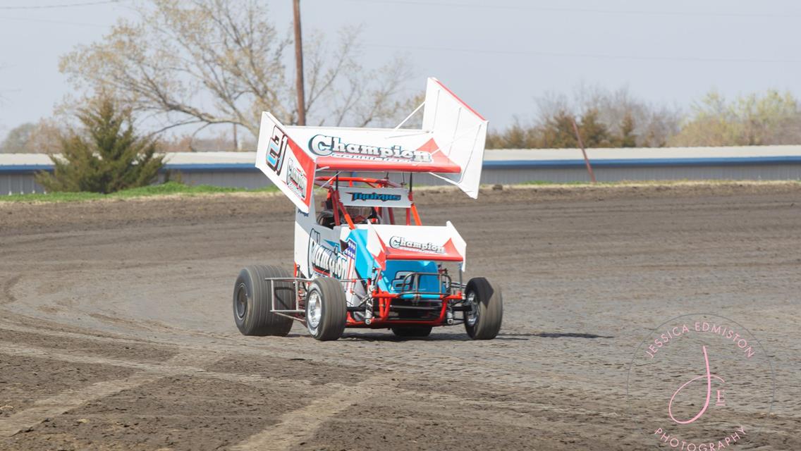
<svg viewBox="0 0 801 451">
<path fill-rule="evenodd" d="M 315 171 L 325 170 L 429 172 L 476 198 L 487 121 L 437 79 L 424 105 L 420 130 L 287 127 L 264 113 L 256 167 L 303 211 Z"/>
</svg>

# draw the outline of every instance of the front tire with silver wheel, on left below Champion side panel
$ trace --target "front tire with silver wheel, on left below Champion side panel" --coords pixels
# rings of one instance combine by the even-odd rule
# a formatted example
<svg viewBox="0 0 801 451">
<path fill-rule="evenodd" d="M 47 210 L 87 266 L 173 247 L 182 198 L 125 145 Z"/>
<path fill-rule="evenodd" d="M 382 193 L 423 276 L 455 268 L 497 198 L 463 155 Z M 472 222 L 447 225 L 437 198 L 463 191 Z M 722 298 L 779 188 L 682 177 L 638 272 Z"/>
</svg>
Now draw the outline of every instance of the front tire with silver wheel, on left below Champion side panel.
<svg viewBox="0 0 801 451">
<path fill-rule="evenodd" d="M 316 340 L 338 340 L 348 320 L 348 305 L 339 280 L 320 277 L 306 293 L 306 328 Z"/>
</svg>

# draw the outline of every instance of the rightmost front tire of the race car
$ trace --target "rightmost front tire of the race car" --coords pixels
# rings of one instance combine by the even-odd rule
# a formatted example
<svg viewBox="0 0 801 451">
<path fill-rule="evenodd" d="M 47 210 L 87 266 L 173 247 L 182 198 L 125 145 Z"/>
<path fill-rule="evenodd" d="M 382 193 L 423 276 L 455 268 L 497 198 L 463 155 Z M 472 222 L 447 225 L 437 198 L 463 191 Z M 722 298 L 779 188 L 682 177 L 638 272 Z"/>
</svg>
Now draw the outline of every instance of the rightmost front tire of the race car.
<svg viewBox="0 0 801 451">
<path fill-rule="evenodd" d="M 465 290 L 465 300 L 473 299 L 475 314 L 465 312 L 465 331 L 473 340 L 492 340 L 501 330 L 503 320 L 503 295 L 484 277 L 470 279 Z M 469 305 L 469 303 L 465 303 Z"/>
</svg>

